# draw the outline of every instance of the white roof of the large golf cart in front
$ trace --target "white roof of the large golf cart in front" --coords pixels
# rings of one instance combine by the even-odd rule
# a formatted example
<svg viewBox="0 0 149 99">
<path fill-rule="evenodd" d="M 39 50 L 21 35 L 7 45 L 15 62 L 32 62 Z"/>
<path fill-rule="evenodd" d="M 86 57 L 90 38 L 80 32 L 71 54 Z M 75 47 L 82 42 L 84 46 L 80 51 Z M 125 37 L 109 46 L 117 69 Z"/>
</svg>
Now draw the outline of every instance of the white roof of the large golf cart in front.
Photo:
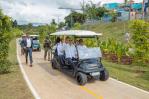
<svg viewBox="0 0 149 99">
<path fill-rule="evenodd" d="M 95 33 L 92 31 L 86 31 L 86 30 L 67 30 L 67 31 L 60 31 L 60 32 L 55 32 L 52 33 L 51 35 L 55 36 L 85 36 L 85 37 L 90 37 L 90 36 L 101 36 L 102 33 Z"/>
</svg>

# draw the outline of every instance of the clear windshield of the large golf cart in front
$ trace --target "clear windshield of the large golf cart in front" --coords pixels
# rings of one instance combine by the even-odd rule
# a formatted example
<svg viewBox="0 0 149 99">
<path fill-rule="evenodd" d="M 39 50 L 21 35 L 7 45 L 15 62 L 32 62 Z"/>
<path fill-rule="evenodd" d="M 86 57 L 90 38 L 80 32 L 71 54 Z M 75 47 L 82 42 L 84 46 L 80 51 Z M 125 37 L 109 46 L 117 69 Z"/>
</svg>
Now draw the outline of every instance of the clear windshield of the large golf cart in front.
<svg viewBox="0 0 149 99">
<path fill-rule="evenodd" d="M 102 57 L 99 47 L 95 48 L 81 48 L 78 49 L 78 56 L 80 60 L 93 59 Z"/>
</svg>

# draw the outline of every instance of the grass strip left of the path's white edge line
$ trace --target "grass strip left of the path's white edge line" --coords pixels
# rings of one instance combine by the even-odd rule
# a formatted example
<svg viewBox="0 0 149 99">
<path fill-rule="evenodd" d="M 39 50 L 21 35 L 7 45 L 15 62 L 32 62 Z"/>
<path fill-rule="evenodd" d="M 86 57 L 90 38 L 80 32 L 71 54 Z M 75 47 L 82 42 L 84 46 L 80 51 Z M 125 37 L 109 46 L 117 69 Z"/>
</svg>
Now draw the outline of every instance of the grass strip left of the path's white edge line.
<svg viewBox="0 0 149 99">
<path fill-rule="evenodd" d="M 0 99 L 34 99 L 18 66 L 16 40 L 10 42 L 9 58 L 11 72 L 0 75 Z"/>
</svg>

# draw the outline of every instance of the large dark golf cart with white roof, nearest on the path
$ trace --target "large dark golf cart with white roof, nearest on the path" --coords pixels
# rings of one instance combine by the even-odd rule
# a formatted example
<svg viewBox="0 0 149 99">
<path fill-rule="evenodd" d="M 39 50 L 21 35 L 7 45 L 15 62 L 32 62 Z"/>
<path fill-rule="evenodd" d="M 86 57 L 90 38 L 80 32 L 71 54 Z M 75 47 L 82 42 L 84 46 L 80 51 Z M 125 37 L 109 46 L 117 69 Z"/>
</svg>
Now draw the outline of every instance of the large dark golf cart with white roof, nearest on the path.
<svg viewBox="0 0 149 99">
<path fill-rule="evenodd" d="M 52 33 L 51 36 L 73 36 L 75 38 L 98 38 L 101 33 L 95 33 L 91 31 L 83 30 L 68 30 Z M 53 51 L 53 58 L 51 65 L 53 69 L 58 69 L 66 74 L 69 74 L 76 78 L 79 85 L 85 85 L 89 79 L 96 79 L 106 81 L 109 78 L 108 71 L 101 63 L 101 51 L 99 47 L 93 48 L 77 48 L 78 59 L 73 61 L 76 65 L 74 70 L 70 64 L 64 59 L 64 64 L 61 64 L 59 57 L 55 54 L 57 51 Z"/>
</svg>

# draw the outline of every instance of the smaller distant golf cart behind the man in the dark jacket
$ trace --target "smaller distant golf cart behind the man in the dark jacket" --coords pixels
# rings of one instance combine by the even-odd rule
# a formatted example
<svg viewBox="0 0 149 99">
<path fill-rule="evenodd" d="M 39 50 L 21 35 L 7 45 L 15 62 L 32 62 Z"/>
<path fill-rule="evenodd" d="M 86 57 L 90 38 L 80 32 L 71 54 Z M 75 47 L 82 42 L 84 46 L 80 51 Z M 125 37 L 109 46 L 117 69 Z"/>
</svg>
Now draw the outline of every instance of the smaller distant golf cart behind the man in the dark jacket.
<svg viewBox="0 0 149 99">
<path fill-rule="evenodd" d="M 39 35 L 30 35 L 30 37 L 33 39 L 33 50 L 41 51 Z"/>
</svg>

